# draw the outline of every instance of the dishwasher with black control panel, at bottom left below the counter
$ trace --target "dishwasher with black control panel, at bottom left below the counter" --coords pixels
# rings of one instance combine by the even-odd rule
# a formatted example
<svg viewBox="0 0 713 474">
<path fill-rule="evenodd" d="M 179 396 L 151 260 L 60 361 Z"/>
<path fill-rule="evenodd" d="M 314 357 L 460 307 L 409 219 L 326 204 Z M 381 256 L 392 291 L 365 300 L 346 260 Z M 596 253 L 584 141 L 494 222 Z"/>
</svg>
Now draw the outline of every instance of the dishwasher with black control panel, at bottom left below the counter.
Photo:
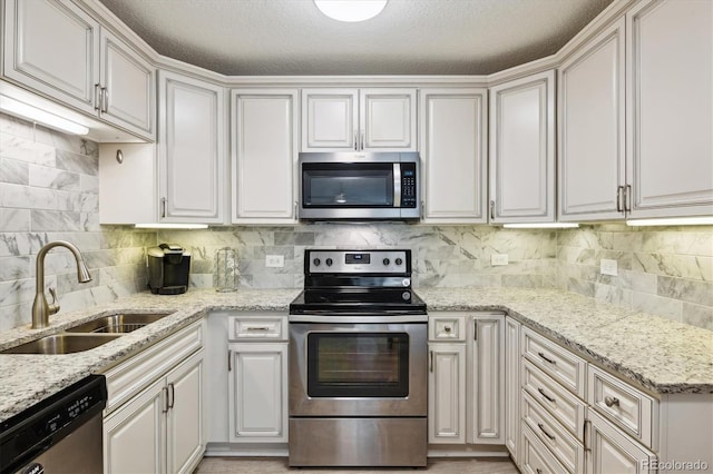
<svg viewBox="0 0 713 474">
<path fill-rule="evenodd" d="M 0 472 L 101 473 L 104 375 L 90 375 L 0 423 Z"/>
</svg>

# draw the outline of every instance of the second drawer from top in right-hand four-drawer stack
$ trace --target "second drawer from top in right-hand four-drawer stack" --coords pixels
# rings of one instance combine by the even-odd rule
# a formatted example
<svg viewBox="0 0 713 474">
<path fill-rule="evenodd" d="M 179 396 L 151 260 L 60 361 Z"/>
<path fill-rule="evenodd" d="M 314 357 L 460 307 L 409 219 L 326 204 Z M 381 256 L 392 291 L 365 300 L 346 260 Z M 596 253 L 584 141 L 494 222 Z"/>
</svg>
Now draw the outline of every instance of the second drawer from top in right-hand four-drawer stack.
<svg viewBox="0 0 713 474">
<path fill-rule="evenodd" d="M 539 402 L 569 433 L 584 442 L 586 404 L 539 371 L 528 359 L 522 361 L 522 388 Z"/>
</svg>

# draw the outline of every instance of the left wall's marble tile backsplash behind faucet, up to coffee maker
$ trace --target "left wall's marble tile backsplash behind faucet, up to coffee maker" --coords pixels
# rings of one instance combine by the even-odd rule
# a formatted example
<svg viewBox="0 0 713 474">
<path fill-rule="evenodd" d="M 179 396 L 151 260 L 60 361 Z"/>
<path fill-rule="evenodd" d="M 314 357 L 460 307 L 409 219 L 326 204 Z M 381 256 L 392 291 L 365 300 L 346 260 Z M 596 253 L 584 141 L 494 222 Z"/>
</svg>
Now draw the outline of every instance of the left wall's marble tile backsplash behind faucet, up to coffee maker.
<svg viewBox="0 0 713 474">
<path fill-rule="evenodd" d="M 0 113 L 0 330 L 30 323 L 48 241 L 75 244 L 92 276 L 79 284 L 68 250 L 47 254 L 45 287 L 57 288 L 62 312 L 145 288 L 144 249 L 156 233 L 99 226 L 98 169 L 97 144 Z"/>
</svg>

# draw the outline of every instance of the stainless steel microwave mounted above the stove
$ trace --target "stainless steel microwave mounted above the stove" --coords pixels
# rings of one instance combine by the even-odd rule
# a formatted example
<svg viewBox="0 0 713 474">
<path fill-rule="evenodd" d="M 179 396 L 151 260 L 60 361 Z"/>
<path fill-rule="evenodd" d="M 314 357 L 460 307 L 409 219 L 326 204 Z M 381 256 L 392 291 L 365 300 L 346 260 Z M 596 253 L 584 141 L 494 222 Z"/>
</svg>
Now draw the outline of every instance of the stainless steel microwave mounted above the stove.
<svg viewBox="0 0 713 474">
<path fill-rule="evenodd" d="M 418 219 L 418 152 L 300 154 L 300 219 Z"/>
</svg>

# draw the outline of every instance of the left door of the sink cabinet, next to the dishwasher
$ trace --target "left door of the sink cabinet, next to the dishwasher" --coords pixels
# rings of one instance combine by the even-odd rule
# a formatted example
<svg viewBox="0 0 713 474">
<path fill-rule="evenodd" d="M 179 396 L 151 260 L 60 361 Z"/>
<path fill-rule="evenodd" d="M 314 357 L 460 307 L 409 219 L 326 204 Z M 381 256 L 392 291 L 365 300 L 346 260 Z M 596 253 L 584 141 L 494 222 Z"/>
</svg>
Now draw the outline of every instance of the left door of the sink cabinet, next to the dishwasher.
<svg viewBox="0 0 713 474">
<path fill-rule="evenodd" d="M 104 419 L 104 470 L 109 474 L 166 471 L 167 397 L 157 381 Z"/>
</svg>

